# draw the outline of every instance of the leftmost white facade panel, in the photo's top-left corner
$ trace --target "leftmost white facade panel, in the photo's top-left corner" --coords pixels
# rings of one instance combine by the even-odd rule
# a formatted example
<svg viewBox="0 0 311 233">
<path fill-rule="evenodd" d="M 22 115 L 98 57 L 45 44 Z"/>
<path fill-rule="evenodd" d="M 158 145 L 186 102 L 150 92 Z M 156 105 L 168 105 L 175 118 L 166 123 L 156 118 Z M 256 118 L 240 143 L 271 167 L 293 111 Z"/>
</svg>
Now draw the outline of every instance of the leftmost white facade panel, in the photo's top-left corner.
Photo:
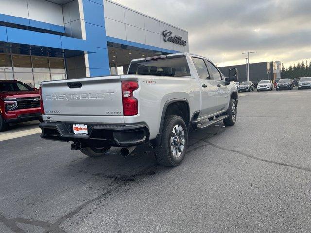
<svg viewBox="0 0 311 233">
<path fill-rule="evenodd" d="M 27 0 L 1 0 L 0 14 L 28 18 Z"/>
</svg>

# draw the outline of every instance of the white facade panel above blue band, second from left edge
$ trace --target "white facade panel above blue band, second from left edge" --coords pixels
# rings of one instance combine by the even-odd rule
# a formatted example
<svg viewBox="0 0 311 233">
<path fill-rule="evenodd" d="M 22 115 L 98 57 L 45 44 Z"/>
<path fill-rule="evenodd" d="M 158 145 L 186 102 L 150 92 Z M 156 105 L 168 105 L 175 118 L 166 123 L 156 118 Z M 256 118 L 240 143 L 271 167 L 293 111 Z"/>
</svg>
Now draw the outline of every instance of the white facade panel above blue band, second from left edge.
<svg viewBox="0 0 311 233">
<path fill-rule="evenodd" d="M 29 19 L 64 26 L 61 5 L 44 1 L 28 0 Z"/>
</svg>

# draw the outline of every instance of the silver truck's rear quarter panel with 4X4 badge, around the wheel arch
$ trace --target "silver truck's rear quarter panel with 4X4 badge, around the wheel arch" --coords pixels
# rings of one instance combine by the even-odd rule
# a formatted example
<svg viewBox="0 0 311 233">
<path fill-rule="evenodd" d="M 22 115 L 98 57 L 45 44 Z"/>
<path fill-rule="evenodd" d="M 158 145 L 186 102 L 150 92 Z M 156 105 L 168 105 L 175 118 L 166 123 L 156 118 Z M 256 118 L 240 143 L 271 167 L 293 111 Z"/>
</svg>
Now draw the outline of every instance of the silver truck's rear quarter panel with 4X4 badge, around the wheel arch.
<svg viewBox="0 0 311 233">
<path fill-rule="evenodd" d="M 150 139 L 159 133 L 162 111 L 167 101 L 187 100 L 190 118 L 200 110 L 200 85 L 194 77 L 125 75 L 121 76 L 121 80 L 136 80 L 139 83 L 138 90 L 133 92 L 138 99 L 138 115 L 124 116 L 124 123 L 145 123 L 150 131 Z"/>
</svg>

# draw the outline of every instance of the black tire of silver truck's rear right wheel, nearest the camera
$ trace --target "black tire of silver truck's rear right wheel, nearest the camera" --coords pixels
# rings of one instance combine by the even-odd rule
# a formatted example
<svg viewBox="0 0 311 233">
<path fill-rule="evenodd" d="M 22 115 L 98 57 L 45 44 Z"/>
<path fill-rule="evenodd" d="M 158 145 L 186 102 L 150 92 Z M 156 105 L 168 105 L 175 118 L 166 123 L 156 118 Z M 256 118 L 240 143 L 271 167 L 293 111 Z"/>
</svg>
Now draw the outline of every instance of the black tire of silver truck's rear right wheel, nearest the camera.
<svg viewBox="0 0 311 233">
<path fill-rule="evenodd" d="M 179 146 L 183 146 L 183 149 L 181 151 L 181 154 L 178 156 L 178 152 L 176 151 L 176 155 L 173 155 L 172 150 L 174 150 L 175 146 L 173 146 L 172 149 L 172 140 L 171 137 L 174 135 L 173 130 L 175 130 L 175 126 L 179 125 L 183 129 L 184 133 L 184 143 L 181 145 L 181 140 L 173 141 L 179 143 L 176 145 L 176 148 L 179 148 Z M 159 165 L 162 166 L 178 166 L 183 161 L 186 151 L 187 151 L 187 143 L 188 143 L 188 130 L 186 127 L 186 124 L 180 116 L 176 115 L 169 115 L 165 116 L 164 119 L 164 125 L 162 130 L 162 138 L 161 143 L 157 146 L 155 146 L 155 157 L 156 161 Z M 180 152 L 180 151 L 179 151 Z M 178 156 L 178 157 L 177 157 Z"/>
</svg>

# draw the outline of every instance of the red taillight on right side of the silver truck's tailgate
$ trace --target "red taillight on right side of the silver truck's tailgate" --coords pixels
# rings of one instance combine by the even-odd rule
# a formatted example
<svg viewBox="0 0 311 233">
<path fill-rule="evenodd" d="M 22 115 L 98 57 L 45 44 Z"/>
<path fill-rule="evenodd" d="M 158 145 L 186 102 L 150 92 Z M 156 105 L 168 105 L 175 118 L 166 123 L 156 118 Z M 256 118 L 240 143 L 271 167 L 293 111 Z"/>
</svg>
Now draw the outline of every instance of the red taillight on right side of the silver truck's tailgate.
<svg viewBox="0 0 311 233">
<path fill-rule="evenodd" d="M 124 116 L 138 114 L 138 100 L 133 97 L 133 91 L 138 89 L 137 81 L 122 81 L 122 101 Z"/>
</svg>

